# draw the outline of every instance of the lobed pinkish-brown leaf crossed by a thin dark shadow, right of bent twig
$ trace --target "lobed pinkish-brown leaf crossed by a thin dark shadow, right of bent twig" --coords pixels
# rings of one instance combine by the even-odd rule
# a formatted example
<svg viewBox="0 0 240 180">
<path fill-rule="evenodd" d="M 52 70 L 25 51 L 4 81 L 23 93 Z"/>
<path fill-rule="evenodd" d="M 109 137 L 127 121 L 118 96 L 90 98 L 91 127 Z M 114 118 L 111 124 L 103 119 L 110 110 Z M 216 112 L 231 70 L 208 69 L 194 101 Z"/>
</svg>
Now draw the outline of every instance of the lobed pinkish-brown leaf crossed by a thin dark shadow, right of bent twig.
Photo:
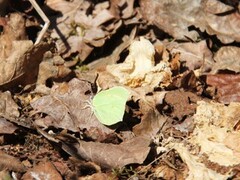
<svg viewBox="0 0 240 180">
<path fill-rule="evenodd" d="M 109 2 L 100 2 L 93 6 L 90 1 L 48 0 L 46 4 L 63 15 L 56 19 L 57 24 L 51 36 L 56 39 L 58 52 L 64 57 L 78 52 L 80 60 L 84 61 L 94 47 L 101 47 L 119 28 L 108 9 Z"/>
</svg>

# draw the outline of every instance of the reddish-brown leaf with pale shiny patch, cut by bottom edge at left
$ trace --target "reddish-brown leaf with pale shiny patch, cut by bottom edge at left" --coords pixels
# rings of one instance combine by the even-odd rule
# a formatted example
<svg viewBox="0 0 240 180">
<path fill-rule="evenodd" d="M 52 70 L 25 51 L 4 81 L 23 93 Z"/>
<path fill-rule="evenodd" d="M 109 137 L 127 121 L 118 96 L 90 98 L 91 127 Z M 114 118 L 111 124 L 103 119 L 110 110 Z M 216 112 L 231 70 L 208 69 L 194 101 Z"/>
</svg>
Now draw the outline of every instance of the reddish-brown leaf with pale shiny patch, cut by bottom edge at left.
<svg viewBox="0 0 240 180">
<path fill-rule="evenodd" d="M 23 180 L 27 179 L 56 179 L 62 180 L 61 175 L 58 173 L 53 164 L 49 161 L 40 162 L 38 165 L 29 169 L 22 177 Z"/>
</svg>

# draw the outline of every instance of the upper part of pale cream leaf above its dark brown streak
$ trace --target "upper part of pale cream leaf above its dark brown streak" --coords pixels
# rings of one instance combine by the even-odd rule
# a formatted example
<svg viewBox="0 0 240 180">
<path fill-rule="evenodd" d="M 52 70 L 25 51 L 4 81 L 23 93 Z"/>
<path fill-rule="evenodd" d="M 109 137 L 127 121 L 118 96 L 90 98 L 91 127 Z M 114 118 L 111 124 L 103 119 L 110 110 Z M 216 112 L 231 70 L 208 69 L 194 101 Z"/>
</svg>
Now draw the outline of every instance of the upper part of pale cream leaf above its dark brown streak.
<svg viewBox="0 0 240 180">
<path fill-rule="evenodd" d="M 225 106 L 220 103 L 198 102 L 197 112 L 194 115 L 196 128 L 190 142 L 200 146 L 200 153 L 208 156 L 209 161 L 220 166 L 233 166 L 240 164 L 238 144 L 226 145 L 226 137 L 240 137 L 234 131 L 239 122 L 238 112 L 240 104 L 231 103 Z M 235 113 L 236 112 L 236 113 Z M 236 147 L 237 146 L 237 147 Z"/>
</svg>

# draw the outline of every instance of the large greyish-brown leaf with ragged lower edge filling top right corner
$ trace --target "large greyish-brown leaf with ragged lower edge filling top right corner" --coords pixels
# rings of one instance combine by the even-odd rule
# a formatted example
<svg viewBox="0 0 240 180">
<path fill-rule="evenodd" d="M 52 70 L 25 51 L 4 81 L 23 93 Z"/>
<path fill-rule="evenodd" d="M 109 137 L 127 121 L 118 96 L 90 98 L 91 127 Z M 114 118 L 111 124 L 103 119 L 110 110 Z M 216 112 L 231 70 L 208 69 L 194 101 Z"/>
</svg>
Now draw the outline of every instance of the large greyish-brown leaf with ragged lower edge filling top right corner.
<svg viewBox="0 0 240 180">
<path fill-rule="evenodd" d="M 202 32 L 217 35 L 223 43 L 240 41 L 239 13 L 218 15 L 232 10 L 218 0 L 141 0 L 140 7 L 144 18 L 176 39 L 187 36 L 196 40 L 196 31 L 188 30 L 195 26 Z"/>
</svg>

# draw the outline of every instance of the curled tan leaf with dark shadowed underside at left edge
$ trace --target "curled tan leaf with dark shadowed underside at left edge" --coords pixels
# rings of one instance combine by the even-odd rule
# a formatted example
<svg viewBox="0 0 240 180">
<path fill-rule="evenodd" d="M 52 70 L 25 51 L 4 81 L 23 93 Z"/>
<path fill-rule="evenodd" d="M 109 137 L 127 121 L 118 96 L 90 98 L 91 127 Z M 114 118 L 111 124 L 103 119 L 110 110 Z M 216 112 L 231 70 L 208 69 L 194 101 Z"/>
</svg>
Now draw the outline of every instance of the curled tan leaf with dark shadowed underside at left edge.
<svg viewBox="0 0 240 180">
<path fill-rule="evenodd" d="M 0 89 L 36 83 L 39 64 L 50 48 L 47 43 L 33 46 L 32 41 L 13 41 L 12 44 L 11 55 L 0 62 Z"/>
</svg>

